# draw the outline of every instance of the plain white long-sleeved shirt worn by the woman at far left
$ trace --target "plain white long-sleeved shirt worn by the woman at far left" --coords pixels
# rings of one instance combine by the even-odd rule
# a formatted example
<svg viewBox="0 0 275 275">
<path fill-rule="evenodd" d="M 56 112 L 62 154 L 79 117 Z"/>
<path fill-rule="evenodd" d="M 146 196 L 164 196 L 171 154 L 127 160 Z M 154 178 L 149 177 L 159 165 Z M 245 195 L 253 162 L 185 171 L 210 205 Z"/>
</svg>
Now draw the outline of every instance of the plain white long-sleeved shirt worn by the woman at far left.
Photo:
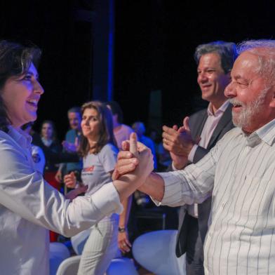
<svg viewBox="0 0 275 275">
<path fill-rule="evenodd" d="M 65 199 L 34 170 L 31 140 L 12 127 L 0 131 L 1 274 L 48 274 L 47 229 L 72 236 L 122 210 L 112 183 L 91 196 Z"/>
</svg>

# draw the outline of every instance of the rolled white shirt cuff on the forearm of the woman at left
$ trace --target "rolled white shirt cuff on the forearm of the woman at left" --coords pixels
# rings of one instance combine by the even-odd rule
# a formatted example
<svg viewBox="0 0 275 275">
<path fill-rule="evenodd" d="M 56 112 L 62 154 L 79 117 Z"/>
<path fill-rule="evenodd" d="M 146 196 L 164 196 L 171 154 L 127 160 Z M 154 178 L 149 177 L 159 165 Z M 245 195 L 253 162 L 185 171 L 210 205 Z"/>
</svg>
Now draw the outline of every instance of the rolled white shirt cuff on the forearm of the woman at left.
<svg viewBox="0 0 275 275">
<path fill-rule="evenodd" d="M 105 215 L 111 213 L 121 214 L 123 211 L 123 206 L 119 199 L 119 193 L 116 191 L 112 182 L 103 185 L 92 195 L 92 198 L 95 207 Z"/>
</svg>

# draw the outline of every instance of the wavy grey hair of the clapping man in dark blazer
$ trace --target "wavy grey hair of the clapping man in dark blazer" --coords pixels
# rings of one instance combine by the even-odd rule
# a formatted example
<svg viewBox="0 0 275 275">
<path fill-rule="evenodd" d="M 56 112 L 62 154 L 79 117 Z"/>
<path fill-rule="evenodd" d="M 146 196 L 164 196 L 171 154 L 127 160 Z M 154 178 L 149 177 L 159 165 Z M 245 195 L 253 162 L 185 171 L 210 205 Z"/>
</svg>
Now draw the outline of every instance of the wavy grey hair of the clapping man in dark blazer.
<svg viewBox="0 0 275 275">
<path fill-rule="evenodd" d="M 232 70 L 234 61 L 236 60 L 236 44 L 225 41 L 213 41 L 206 44 L 201 44 L 196 47 L 194 58 L 196 63 L 199 64 L 199 60 L 202 55 L 207 53 L 217 53 L 220 55 L 221 67 L 224 70 L 224 74 L 227 74 Z"/>
</svg>

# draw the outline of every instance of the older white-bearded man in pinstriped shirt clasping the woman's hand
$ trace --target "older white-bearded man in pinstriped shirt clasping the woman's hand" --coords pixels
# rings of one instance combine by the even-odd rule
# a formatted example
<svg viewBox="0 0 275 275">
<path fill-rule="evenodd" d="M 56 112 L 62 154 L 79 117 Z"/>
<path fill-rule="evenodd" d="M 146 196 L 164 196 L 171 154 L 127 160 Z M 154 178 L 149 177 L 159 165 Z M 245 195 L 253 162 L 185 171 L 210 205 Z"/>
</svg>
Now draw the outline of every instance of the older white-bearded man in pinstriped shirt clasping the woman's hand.
<svg viewBox="0 0 275 275">
<path fill-rule="evenodd" d="M 275 274 L 275 41 L 247 41 L 238 51 L 224 91 L 237 128 L 185 170 L 152 173 L 140 191 L 168 206 L 212 192 L 205 273 Z M 127 154 L 119 154 L 119 173 Z"/>
</svg>

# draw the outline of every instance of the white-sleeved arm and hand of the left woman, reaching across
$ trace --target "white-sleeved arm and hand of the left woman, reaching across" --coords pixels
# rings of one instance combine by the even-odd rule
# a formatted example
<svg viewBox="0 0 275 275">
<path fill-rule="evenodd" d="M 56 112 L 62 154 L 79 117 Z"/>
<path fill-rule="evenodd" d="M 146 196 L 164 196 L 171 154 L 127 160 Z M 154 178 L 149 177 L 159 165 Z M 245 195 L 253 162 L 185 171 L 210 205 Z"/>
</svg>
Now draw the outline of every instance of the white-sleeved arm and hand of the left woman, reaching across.
<svg viewBox="0 0 275 275">
<path fill-rule="evenodd" d="M 22 149 L 15 147 L 13 142 L 1 142 L 0 154 L 1 205 L 64 236 L 88 229 L 106 215 L 121 213 L 121 201 L 128 198 L 153 170 L 152 154 L 149 149 L 144 150 L 139 154 L 140 167 L 133 173 L 104 185 L 91 196 L 70 201 L 34 171 Z"/>
</svg>

